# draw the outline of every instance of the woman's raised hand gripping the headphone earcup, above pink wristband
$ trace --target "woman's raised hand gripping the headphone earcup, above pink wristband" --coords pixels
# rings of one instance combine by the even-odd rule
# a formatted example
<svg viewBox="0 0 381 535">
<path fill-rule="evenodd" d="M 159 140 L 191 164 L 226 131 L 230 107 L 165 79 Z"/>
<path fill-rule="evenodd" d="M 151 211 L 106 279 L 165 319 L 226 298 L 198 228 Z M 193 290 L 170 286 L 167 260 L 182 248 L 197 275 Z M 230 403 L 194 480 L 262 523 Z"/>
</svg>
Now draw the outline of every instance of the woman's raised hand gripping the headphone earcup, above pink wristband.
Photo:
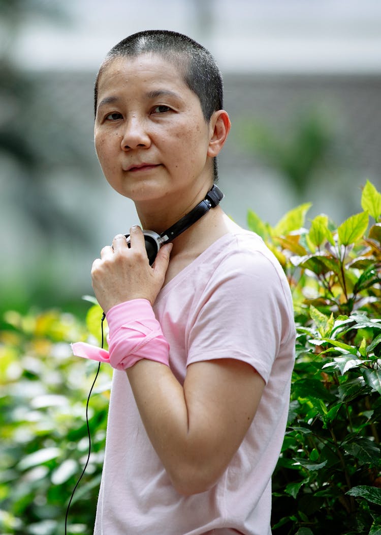
<svg viewBox="0 0 381 535">
<path fill-rule="evenodd" d="M 149 265 L 144 234 L 134 226 L 130 230 L 130 245 L 123 234 L 118 234 L 112 247 L 104 247 L 101 257 L 94 260 L 91 280 L 102 310 L 131 299 L 148 299 L 153 305 L 164 284 L 172 244 L 158 251 L 153 266 Z"/>
</svg>

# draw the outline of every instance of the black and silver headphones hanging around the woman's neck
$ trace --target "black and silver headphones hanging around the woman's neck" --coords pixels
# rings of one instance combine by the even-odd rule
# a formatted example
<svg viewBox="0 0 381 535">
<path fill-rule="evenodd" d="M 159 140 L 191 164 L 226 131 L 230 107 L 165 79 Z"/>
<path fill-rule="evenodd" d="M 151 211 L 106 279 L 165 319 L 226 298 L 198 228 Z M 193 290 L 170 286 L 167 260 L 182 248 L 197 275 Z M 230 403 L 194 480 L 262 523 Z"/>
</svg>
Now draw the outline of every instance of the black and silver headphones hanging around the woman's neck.
<svg viewBox="0 0 381 535">
<path fill-rule="evenodd" d="M 143 231 L 144 239 L 146 242 L 146 251 L 149 259 L 149 265 L 152 265 L 155 261 L 158 250 L 164 243 L 167 243 L 171 240 L 177 238 L 181 232 L 184 232 L 189 228 L 193 223 L 196 223 L 205 213 L 209 212 L 211 208 L 215 208 L 217 204 L 224 198 L 223 192 L 214 185 L 212 189 L 209 190 L 207 196 L 197 204 L 193 210 L 187 213 L 184 217 L 179 219 L 177 223 L 174 223 L 171 227 L 167 228 L 161 234 L 157 234 L 154 231 Z M 130 247 L 130 234 L 124 234 L 128 246 Z"/>
</svg>

